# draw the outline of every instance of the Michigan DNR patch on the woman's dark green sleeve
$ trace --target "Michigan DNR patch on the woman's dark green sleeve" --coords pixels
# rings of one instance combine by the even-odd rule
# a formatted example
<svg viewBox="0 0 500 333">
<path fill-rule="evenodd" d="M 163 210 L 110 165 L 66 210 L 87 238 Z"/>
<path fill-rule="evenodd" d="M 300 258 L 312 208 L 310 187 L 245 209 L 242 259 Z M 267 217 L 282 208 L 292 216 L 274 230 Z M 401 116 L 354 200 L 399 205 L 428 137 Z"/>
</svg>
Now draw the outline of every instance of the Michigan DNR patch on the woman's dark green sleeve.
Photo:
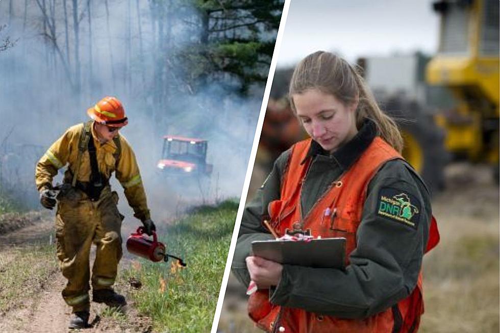
<svg viewBox="0 0 500 333">
<path fill-rule="evenodd" d="M 415 196 L 390 187 L 380 190 L 377 215 L 416 229 L 420 220 L 420 212 L 420 201 Z"/>
</svg>

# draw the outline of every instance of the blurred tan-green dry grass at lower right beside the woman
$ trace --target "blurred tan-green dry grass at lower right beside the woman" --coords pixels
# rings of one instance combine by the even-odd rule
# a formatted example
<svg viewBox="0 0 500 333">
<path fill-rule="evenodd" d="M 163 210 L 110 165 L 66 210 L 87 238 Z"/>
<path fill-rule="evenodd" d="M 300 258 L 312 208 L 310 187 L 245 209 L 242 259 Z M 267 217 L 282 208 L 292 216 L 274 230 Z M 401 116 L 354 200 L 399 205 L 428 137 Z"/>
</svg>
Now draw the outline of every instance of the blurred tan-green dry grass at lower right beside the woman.
<svg viewBox="0 0 500 333">
<path fill-rule="evenodd" d="M 424 257 L 421 333 L 498 332 L 498 215 L 442 219 L 441 241 Z M 453 219 L 453 220 L 452 220 Z"/>
</svg>

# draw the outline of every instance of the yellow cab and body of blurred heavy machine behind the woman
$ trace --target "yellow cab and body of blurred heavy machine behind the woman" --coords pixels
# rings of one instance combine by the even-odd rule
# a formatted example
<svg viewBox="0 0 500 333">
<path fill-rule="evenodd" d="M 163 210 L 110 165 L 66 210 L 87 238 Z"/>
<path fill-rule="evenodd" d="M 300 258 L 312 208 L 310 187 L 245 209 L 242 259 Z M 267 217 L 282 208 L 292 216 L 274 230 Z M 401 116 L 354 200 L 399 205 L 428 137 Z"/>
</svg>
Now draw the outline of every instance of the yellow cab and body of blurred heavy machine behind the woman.
<svg viewBox="0 0 500 333">
<path fill-rule="evenodd" d="M 433 3 L 440 15 L 439 49 L 426 68 L 430 85 L 447 87 L 457 106 L 435 116 L 454 157 L 487 162 L 498 182 L 499 160 L 498 0 Z"/>
</svg>

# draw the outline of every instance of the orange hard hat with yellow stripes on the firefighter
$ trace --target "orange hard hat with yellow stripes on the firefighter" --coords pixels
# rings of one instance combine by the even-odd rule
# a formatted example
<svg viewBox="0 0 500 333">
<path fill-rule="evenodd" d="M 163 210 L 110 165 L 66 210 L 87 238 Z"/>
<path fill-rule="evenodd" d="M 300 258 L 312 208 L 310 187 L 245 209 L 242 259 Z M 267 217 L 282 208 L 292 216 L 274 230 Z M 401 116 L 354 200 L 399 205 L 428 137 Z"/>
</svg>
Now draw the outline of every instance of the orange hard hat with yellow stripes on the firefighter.
<svg viewBox="0 0 500 333">
<path fill-rule="evenodd" d="M 89 108 L 87 114 L 99 124 L 111 127 L 123 127 L 129 123 L 123 106 L 116 97 L 104 97 L 94 107 Z"/>
</svg>

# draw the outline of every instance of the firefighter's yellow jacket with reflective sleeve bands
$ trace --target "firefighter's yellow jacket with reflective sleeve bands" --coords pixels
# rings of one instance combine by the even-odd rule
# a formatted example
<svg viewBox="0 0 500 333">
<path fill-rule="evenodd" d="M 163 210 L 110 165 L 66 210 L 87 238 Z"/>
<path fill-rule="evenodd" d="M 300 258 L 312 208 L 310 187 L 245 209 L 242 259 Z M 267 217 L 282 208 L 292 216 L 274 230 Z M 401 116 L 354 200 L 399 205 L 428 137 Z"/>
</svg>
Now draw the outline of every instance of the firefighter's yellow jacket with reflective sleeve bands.
<svg viewBox="0 0 500 333">
<path fill-rule="evenodd" d="M 68 164 L 68 169 L 64 177 L 66 180 L 71 181 L 72 174 L 76 169 L 78 145 L 83 126 L 83 124 L 71 126 L 52 144 L 51 147 L 48 148 L 38 161 L 35 171 L 38 191 L 43 190 L 43 188 L 48 185 L 52 185 L 53 177 L 57 174 L 58 170 L 66 164 Z M 113 153 L 117 147 L 113 140 L 101 144 L 97 140 L 93 124 L 91 128 L 99 171 L 108 179 L 111 177 L 113 171 L 116 171 L 115 176 L 123 186 L 129 206 L 134 210 L 134 216 L 141 221 L 150 218 L 139 166 L 137 165 L 135 154 L 131 146 L 122 135 L 119 135 L 121 153 L 118 157 L 118 163 L 116 163 Z M 85 150 L 82 154 L 77 181 L 88 182 L 90 180 L 90 173 L 90 156 L 89 152 Z"/>
</svg>

